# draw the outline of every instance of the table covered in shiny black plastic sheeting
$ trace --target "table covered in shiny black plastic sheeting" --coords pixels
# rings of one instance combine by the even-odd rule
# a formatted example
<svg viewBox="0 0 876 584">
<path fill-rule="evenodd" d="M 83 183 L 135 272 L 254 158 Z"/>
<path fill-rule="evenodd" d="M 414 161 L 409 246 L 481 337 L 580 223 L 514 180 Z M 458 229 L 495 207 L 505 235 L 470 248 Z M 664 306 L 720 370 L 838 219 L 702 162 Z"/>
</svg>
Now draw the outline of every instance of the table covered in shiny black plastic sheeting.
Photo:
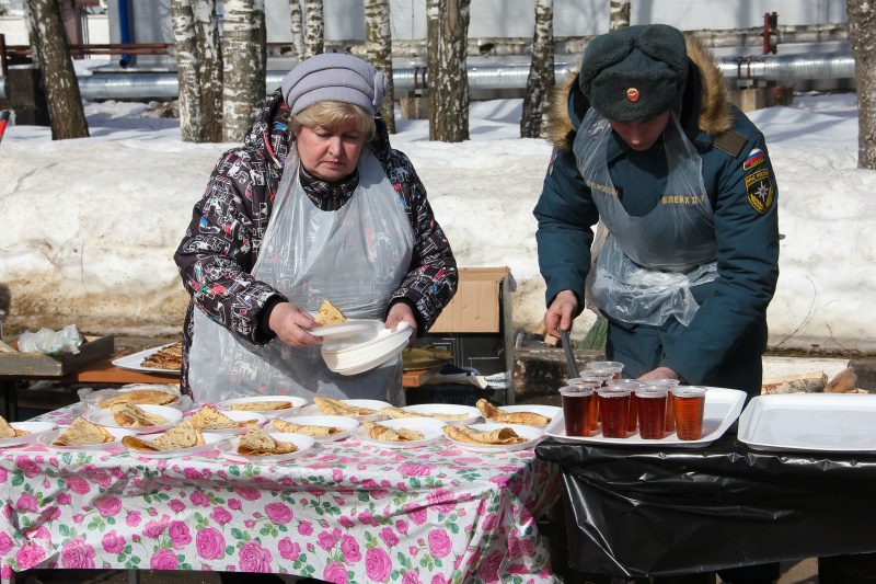
<svg viewBox="0 0 876 584">
<path fill-rule="evenodd" d="M 592 443 L 591 443 L 592 444 Z M 542 442 L 563 473 L 569 565 L 669 576 L 876 551 L 876 455 Z"/>
</svg>

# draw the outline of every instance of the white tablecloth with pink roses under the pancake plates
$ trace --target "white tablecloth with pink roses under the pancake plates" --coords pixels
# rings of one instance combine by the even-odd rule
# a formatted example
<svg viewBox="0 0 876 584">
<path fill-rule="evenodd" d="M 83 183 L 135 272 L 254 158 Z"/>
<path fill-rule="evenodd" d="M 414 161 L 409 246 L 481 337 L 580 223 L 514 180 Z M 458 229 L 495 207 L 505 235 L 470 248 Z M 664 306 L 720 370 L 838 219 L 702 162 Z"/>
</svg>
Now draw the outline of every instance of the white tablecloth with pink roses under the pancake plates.
<svg viewBox="0 0 876 584">
<path fill-rule="evenodd" d="M 60 425 L 74 406 L 41 416 Z M 0 579 L 28 568 L 274 572 L 335 583 L 553 582 L 535 525 L 557 467 L 532 450 L 347 438 L 277 465 L 221 453 L 0 450 Z"/>
</svg>

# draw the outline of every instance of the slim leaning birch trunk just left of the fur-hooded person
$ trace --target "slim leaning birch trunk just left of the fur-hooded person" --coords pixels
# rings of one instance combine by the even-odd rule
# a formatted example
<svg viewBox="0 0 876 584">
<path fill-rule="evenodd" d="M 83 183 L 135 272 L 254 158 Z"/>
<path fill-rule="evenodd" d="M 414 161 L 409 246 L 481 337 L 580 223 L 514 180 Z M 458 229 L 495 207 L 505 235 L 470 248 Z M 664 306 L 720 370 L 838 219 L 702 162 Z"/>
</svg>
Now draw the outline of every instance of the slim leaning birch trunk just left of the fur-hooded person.
<svg viewBox="0 0 876 584">
<path fill-rule="evenodd" d="M 532 37 L 532 65 L 527 78 L 523 116 L 520 118 L 520 137 L 541 136 L 544 102 L 554 89 L 554 2 L 535 2 L 535 34 Z"/>
</svg>

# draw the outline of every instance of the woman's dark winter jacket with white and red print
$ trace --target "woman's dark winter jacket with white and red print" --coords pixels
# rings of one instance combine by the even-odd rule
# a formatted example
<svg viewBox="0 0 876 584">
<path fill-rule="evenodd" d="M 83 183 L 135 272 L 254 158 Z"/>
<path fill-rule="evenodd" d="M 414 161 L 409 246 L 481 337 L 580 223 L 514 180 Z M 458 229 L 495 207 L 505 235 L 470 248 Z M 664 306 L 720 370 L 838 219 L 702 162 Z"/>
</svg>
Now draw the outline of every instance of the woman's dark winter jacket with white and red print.
<svg viewBox="0 0 876 584">
<path fill-rule="evenodd" d="M 411 306 L 417 319 L 417 334 L 423 335 L 457 289 L 457 262 L 413 164 L 390 147 L 382 118 L 377 117 L 376 123 L 371 149 L 402 199 L 416 240 L 407 276 L 389 306 L 399 301 Z M 265 345 L 274 339 L 264 323 L 260 327 L 260 314 L 283 297 L 255 279 L 251 271 L 270 220 L 284 161 L 295 148 L 288 124 L 289 108 L 277 90 L 246 133 L 244 145 L 222 154 L 174 254 L 183 285 L 192 295 L 183 328 L 185 392 L 195 308 L 254 345 Z M 331 188 L 307 173 L 302 173 L 301 182 L 315 205 L 333 210 L 346 203 L 358 174 L 354 173 L 342 188 Z"/>
</svg>

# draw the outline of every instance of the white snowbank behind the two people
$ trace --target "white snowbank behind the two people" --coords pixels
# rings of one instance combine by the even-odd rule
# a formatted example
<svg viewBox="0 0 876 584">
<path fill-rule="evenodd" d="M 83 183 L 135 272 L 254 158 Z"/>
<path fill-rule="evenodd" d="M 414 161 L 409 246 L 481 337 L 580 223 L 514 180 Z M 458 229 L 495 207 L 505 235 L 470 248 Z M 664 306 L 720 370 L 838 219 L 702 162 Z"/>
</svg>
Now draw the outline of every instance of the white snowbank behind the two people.
<svg viewBox="0 0 876 584">
<path fill-rule="evenodd" d="M 95 59 L 96 61 L 96 59 Z M 80 75 L 91 61 L 76 61 Z M 96 61 L 100 62 L 100 61 Z M 9 126 L 0 144 L 0 297 L 11 323 L 100 333 L 178 334 L 187 295 L 172 255 L 207 176 L 231 144 L 180 139 L 178 121 L 146 104 L 87 102 L 90 138 Z M 544 312 L 532 208 L 551 156 L 520 139 L 521 100 L 475 102 L 471 140 L 430 142 L 428 121 L 401 119 L 391 140 L 429 193 L 460 266 L 511 268 L 515 323 Z M 876 350 L 876 172 L 858 170 L 853 93 L 797 95 L 752 112 L 779 184 L 782 240 L 771 346 Z M 573 336 L 592 322 L 585 312 Z M 47 324 L 48 325 L 48 324 Z"/>
</svg>

